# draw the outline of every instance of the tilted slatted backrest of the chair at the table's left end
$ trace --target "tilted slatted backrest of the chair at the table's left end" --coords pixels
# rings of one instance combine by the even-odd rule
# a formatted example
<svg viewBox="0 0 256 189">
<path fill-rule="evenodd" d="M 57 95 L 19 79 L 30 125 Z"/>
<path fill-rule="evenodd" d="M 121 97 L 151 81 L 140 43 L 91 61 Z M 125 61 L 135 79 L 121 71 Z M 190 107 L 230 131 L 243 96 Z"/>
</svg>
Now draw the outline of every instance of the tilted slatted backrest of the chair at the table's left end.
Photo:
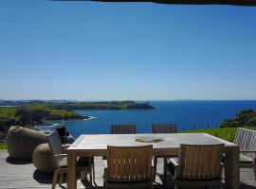
<svg viewBox="0 0 256 189">
<path fill-rule="evenodd" d="M 46 139 L 52 154 L 56 155 L 63 153 L 62 141 L 57 131 L 53 131 L 48 134 Z"/>
</svg>

